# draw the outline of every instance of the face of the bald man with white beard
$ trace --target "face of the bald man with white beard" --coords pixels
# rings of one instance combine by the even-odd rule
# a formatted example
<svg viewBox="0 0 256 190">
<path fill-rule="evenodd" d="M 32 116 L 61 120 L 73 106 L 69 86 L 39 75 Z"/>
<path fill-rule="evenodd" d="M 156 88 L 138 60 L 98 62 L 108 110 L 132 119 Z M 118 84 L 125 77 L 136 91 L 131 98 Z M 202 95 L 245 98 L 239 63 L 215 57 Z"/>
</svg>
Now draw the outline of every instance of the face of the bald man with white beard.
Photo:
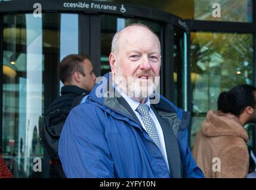
<svg viewBox="0 0 256 190">
<path fill-rule="evenodd" d="M 128 89 L 125 90 L 121 84 L 117 84 L 122 91 L 132 97 L 147 97 L 153 93 L 159 82 L 159 42 L 151 31 L 143 27 L 134 26 L 127 29 L 121 33 L 118 55 L 115 55 L 116 62 L 112 69 L 115 83 L 116 78 L 124 77 Z M 143 96 L 145 94 L 146 96 Z"/>
</svg>

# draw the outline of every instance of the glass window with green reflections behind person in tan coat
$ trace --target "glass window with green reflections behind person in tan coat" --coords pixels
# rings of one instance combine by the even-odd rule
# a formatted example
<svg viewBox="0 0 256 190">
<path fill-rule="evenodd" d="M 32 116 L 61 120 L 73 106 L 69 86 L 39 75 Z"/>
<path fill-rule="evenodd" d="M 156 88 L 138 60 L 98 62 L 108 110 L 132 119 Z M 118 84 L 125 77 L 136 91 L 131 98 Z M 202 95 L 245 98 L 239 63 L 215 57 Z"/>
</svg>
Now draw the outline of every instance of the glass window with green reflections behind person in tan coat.
<svg viewBox="0 0 256 190">
<path fill-rule="evenodd" d="M 222 91 L 252 84 L 253 34 L 191 33 L 192 138 Z"/>
</svg>

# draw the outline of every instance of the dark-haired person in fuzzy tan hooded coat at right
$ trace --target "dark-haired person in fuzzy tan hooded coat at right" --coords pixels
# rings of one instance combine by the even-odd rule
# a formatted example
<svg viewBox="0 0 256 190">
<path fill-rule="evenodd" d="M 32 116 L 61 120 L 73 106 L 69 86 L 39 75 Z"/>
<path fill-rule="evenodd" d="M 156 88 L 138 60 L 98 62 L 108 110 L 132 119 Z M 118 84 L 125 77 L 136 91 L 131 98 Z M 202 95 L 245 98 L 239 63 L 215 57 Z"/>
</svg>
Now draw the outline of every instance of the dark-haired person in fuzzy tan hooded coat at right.
<svg viewBox="0 0 256 190">
<path fill-rule="evenodd" d="M 218 97 L 196 135 L 193 156 L 206 178 L 246 178 L 249 167 L 245 124 L 256 122 L 256 88 L 239 85 Z"/>
</svg>

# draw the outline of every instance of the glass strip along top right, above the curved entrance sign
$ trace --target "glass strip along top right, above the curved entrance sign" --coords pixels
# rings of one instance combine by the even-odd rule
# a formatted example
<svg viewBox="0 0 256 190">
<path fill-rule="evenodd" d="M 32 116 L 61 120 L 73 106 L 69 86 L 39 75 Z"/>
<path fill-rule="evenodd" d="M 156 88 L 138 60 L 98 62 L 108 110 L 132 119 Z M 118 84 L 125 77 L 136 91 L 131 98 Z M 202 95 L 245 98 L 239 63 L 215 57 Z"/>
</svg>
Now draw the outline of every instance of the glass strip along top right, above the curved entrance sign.
<svg viewBox="0 0 256 190">
<path fill-rule="evenodd" d="M 137 0 L 106 1 L 159 9 L 187 19 L 253 22 L 253 0 L 158 0 L 147 1 L 146 4 L 145 1 Z M 214 3 L 220 4 L 220 17 L 212 16 L 212 12 L 216 9 L 212 8 Z"/>
</svg>

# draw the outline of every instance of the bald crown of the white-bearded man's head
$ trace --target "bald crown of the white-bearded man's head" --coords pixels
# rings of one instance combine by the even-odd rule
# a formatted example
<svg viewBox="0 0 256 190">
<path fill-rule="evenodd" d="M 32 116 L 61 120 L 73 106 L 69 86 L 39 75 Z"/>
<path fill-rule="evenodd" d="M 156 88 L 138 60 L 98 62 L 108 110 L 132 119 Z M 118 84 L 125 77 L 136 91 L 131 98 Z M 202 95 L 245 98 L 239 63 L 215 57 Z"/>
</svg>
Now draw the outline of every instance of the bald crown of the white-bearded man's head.
<svg viewBox="0 0 256 190">
<path fill-rule="evenodd" d="M 118 56 L 119 49 L 125 45 L 124 41 L 131 40 L 134 34 L 152 37 L 158 43 L 159 51 L 161 52 L 161 45 L 158 36 L 153 32 L 153 30 L 144 24 L 131 24 L 128 27 L 118 31 L 113 37 L 111 52 Z M 120 44 L 122 44 L 122 46 L 120 46 Z"/>
</svg>

